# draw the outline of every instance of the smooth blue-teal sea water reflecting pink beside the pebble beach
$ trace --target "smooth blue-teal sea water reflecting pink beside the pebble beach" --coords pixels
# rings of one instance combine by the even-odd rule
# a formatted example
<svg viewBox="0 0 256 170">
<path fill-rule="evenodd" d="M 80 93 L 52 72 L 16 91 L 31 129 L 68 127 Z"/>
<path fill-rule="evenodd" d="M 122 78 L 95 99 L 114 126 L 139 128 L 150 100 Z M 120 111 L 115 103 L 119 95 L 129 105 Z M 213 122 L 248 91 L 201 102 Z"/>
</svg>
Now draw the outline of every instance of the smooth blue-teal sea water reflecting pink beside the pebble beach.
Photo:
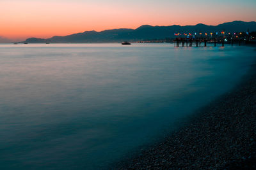
<svg viewBox="0 0 256 170">
<path fill-rule="evenodd" d="M 249 47 L 0 45 L 0 169 L 102 168 L 230 90 Z"/>
</svg>

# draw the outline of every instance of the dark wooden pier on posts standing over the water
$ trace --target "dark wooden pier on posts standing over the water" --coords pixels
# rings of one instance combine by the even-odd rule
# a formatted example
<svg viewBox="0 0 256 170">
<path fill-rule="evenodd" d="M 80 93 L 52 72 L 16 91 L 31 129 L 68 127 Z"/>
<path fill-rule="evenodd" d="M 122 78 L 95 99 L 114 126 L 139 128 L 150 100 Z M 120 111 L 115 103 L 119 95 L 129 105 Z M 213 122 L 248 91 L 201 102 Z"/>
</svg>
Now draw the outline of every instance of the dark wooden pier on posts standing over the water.
<svg viewBox="0 0 256 170">
<path fill-rule="evenodd" d="M 173 40 L 174 46 L 179 47 L 180 45 L 182 47 L 184 46 L 207 46 L 209 44 L 216 46 L 217 44 L 220 44 L 221 46 L 224 46 L 225 44 L 231 44 L 232 46 L 234 43 L 241 46 L 242 43 L 244 43 L 244 40 L 229 40 L 225 41 L 225 39 L 174 39 Z"/>
</svg>

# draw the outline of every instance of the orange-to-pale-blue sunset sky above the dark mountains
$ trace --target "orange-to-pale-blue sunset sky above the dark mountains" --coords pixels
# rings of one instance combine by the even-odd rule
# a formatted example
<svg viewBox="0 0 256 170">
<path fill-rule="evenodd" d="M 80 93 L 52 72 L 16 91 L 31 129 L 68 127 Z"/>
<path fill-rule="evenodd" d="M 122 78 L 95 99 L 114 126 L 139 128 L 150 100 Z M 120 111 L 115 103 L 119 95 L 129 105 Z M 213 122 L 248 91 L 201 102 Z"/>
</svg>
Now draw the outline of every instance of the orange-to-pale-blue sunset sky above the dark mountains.
<svg viewBox="0 0 256 170">
<path fill-rule="evenodd" d="M 141 25 L 255 21 L 255 0 L 0 0 L 0 42 Z"/>
</svg>

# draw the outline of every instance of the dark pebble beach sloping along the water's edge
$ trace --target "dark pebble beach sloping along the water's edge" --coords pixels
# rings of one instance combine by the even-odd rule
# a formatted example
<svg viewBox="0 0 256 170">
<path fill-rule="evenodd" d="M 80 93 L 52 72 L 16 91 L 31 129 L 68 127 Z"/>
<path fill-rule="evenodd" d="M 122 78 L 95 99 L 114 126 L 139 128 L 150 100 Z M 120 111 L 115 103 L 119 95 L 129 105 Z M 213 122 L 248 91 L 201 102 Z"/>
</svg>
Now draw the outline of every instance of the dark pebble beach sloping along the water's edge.
<svg viewBox="0 0 256 170">
<path fill-rule="evenodd" d="M 114 169 L 256 169 L 256 64 L 163 141 Z"/>
</svg>

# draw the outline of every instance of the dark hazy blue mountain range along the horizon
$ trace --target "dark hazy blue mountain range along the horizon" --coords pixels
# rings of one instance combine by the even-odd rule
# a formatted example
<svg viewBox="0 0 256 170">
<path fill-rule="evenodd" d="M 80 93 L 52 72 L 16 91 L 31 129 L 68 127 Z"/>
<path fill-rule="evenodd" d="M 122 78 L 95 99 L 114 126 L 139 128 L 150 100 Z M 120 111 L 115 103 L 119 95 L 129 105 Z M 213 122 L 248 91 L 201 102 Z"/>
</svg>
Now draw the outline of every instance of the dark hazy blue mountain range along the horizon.
<svg viewBox="0 0 256 170">
<path fill-rule="evenodd" d="M 147 39 L 174 38 L 175 32 L 246 32 L 256 31 L 256 22 L 233 21 L 220 25 L 142 25 L 137 29 L 111 29 L 105 31 L 85 31 L 68 36 L 53 36 L 52 38 L 28 38 L 26 43 L 114 43 L 122 41 L 143 41 Z"/>
</svg>

